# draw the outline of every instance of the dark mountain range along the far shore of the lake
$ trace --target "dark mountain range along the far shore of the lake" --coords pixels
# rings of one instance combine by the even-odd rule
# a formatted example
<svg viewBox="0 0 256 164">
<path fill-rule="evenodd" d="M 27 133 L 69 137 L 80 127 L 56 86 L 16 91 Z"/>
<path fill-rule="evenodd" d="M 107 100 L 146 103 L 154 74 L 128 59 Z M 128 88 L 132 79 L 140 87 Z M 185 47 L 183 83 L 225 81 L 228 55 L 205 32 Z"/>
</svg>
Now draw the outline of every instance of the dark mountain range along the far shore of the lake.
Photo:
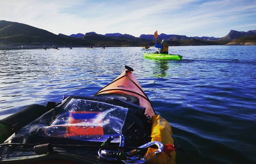
<svg viewBox="0 0 256 164">
<path fill-rule="evenodd" d="M 187 37 L 185 35 L 164 34 L 158 35 L 159 40 L 167 40 L 170 46 L 187 45 L 225 45 L 235 39 L 245 36 L 256 36 L 256 30 L 234 31 L 231 30 L 228 35 L 215 37 Z M 64 35 L 53 34 L 49 31 L 32 27 L 26 24 L 0 20 L 0 45 L 10 44 L 29 44 L 29 45 L 67 45 L 67 46 L 106 46 L 108 47 L 134 47 L 154 45 L 155 38 L 153 34 L 141 34 L 135 37 L 129 34 L 106 33 L 105 35 L 96 32 L 78 33 Z"/>
</svg>

